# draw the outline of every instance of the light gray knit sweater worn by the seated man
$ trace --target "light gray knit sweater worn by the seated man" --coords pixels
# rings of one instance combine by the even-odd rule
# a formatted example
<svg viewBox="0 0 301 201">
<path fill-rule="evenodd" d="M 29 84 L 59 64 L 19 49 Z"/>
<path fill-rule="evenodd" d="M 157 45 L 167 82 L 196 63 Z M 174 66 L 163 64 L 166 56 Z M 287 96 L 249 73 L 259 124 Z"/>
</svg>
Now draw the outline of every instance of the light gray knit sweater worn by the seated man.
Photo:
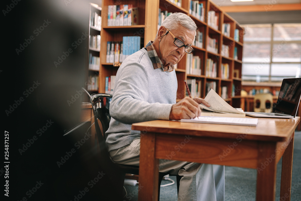
<svg viewBox="0 0 301 201">
<path fill-rule="evenodd" d="M 119 67 L 110 104 L 110 127 L 106 132 L 108 151 L 127 146 L 140 138 L 131 124 L 151 120 L 169 120 L 176 103 L 175 71 L 154 69 L 147 50 L 127 57 Z"/>
</svg>

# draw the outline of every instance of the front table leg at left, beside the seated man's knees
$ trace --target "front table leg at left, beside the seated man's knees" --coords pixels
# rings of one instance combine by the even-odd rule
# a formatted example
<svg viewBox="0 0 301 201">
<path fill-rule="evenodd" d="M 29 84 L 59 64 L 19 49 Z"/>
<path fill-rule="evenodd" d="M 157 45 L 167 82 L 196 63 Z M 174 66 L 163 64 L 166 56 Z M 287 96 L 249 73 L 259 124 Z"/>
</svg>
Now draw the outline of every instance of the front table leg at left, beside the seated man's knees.
<svg viewBox="0 0 301 201">
<path fill-rule="evenodd" d="M 143 134 L 140 141 L 138 200 L 157 201 L 159 185 L 159 159 L 155 159 L 155 133 Z"/>
</svg>

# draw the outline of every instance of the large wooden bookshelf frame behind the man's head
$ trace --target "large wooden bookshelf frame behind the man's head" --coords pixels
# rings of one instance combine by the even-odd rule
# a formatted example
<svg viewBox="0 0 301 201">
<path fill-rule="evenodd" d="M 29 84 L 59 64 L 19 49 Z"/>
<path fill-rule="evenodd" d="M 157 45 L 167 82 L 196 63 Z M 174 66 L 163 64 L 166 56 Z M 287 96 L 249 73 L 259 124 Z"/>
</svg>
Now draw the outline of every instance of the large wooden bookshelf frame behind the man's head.
<svg viewBox="0 0 301 201">
<path fill-rule="evenodd" d="M 221 96 L 222 88 L 227 87 L 227 96 L 225 100 L 233 107 L 240 107 L 240 91 L 241 91 L 241 67 L 242 67 L 242 51 L 243 51 L 243 35 L 244 29 L 232 19 L 228 14 L 217 7 L 211 0 L 199 1 L 203 4 L 204 20 L 190 13 L 190 0 L 182 0 L 182 6 L 176 5 L 168 0 L 118 0 L 102 1 L 102 30 L 101 30 L 101 65 L 99 69 L 99 93 L 105 92 L 105 77 L 116 75 L 118 67 L 114 67 L 112 63 L 106 63 L 107 41 L 122 41 L 123 36 L 141 36 L 144 46 L 150 40 L 154 40 L 159 20 L 160 11 L 182 12 L 189 15 L 196 23 L 200 32 L 202 32 L 203 46 L 192 46 L 194 56 L 198 56 L 201 60 L 201 74 L 190 74 L 187 72 L 187 54 L 179 61 L 177 69 L 175 69 L 178 80 L 177 101 L 186 96 L 186 88 L 184 80 L 196 79 L 198 83 L 198 93 L 201 98 L 206 96 L 206 84 L 215 82 L 216 92 Z M 139 20 L 138 25 L 134 26 L 107 26 L 107 14 L 109 5 L 126 5 L 132 4 L 138 7 Z M 216 24 L 208 25 L 208 12 L 214 11 L 216 16 Z M 212 15 L 213 16 L 213 15 Z M 213 16 L 214 17 L 214 16 Z M 230 26 L 229 34 L 223 33 L 223 24 L 228 23 Z M 235 40 L 235 30 L 238 30 L 238 41 Z M 208 37 L 216 40 L 216 50 L 209 48 L 207 44 Z M 222 45 L 228 46 L 228 55 L 223 55 Z M 234 50 L 237 49 L 235 58 Z M 206 76 L 207 59 L 211 58 L 216 63 L 216 76 Z M 228 65 L 228 77 L 222 76 L 222 64 Z M 225 71 L 224 71 L 225 72 Z M 234 87 L 233 87 L 234 86 Z M 224 88 L 225 89 L 225 88 Z M 232 91 L 233 89 L 233 91 Z"/>
</svg>

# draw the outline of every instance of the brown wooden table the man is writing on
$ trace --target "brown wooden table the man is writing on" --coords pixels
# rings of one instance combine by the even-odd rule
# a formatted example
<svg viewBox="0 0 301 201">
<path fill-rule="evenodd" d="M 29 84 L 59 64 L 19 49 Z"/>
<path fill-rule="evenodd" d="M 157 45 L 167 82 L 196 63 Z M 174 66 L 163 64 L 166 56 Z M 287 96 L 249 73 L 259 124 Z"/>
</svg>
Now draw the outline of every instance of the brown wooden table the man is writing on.
<svg viewBox="0 0 301 201">
<path fill-rule="evenodd" d="M 159 159 L 169 158 L 257 169 L 256 200 L 274 201 L 276 168 L 283 156 L 280 197 L 290 200 L 294 130 L 299 122 L 300 117 L 259 118 L 256 127 L 163 120 L 132 124 L 133 130 L 141 131 L 138 199 L 157 200 L 157 165 Z"/>
</svg>

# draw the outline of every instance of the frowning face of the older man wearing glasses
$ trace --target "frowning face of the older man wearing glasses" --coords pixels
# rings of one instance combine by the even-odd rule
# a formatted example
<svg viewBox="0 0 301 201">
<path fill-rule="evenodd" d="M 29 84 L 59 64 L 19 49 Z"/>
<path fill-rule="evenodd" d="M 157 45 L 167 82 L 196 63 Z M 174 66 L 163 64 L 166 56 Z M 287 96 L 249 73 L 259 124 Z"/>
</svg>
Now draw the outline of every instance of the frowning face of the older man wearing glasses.
<svg viewBox="0 0 301 201">
<path fill-rule="evenodd" d="M 164 34 L 166 34 L 167 30 L 164 28 Z M 190 46 L 194 39 L 194 31 L 190 31 L 184 28 L 181 25 L 169 30 L 172 34 L 177 38 L 180 39 L 185 45 Z M 164 35 L 163 34 L 163 35 Z M 163 62 L 164 66 L 169 66 L 171 64 L 177 64 L 182 57 L 185 55 L 185 46 L 178 47 L 174 44 L 175 39 L 173 36 L 168 33 L 161 39 L 160 43 L 160 52 L 162 54 L 161 61 Z M 160 56 L 160 53 L 158 54 Z"/>
</svg>

